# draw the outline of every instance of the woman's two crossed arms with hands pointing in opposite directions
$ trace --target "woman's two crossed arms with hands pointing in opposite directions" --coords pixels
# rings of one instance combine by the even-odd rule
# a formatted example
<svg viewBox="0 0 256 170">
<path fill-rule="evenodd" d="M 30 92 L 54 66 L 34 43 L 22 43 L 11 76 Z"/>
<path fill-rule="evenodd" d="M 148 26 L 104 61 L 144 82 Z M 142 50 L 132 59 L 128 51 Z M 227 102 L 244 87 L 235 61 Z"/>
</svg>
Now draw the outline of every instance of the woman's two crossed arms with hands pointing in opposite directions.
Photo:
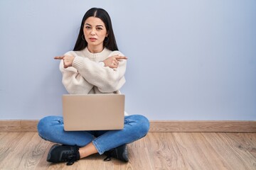
<svg viewBox="0 0 256 170">
<path fill-rule="evenodd" d="M 63 85 L 70 94 L 88 94 L 93 86 L 103 93 L 117 91 L 124 84 L 127 57 L 113 55 L 102 61 L 105 67 L 85 57 L 63 55 L 60 62 Z"/>
</svg>

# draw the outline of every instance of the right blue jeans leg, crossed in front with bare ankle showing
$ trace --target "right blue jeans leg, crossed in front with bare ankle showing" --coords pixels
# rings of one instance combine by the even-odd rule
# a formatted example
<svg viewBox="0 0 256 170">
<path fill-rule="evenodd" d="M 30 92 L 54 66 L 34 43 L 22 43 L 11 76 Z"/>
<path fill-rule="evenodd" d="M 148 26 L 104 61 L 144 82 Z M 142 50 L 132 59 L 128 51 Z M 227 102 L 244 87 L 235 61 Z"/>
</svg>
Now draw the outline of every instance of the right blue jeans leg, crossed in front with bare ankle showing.
<svg viewBox="0 0 256 170">
<path fill-rule="evenodd" d="M 149 131 L 149 120 L 143 115 L 128 115 L 124 118 L 124 129 L 102 131 L 102 135 L 92 140 L 97 151 L 105 151 L 128 144 L 144 137 Z"/>
</svg>

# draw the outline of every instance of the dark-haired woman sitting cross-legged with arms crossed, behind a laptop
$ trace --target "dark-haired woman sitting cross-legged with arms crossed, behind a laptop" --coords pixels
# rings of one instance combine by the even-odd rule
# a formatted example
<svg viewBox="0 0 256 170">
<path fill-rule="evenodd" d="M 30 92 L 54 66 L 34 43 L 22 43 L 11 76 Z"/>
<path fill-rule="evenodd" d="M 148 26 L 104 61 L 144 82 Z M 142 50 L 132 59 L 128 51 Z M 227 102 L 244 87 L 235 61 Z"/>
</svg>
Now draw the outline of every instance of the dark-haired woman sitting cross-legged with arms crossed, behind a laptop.
<svg viewBox="0 0 256 170">
<path fill-rule="evenodd" d="M 124 85 L 127 57 L 118 51 L 107 11 L 91 8 L 82 18 L 73 51 L 55 57 L 60 61 L 63 85 L 69 94 L 119 94 Z M 127 144 L 144 137 L 149 120 L 142 115 L 124 116 L 123 130 L 69 131 L 63 129 L 63 117 L 48 116 L 38 123 L 38 134 L 53 145 L 48 162 L 68 165 L 91 154 L 107 154 L 128 162 Z"/>
</svg>

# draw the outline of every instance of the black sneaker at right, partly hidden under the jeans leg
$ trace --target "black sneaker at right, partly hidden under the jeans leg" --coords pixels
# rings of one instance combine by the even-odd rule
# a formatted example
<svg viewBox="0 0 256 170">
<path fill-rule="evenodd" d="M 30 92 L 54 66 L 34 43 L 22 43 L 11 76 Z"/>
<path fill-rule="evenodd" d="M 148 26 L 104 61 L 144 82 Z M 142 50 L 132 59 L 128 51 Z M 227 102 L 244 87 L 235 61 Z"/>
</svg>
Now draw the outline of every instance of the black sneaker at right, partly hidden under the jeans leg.
<svg viewBox="0 0 256 170">
<path fill-rule="evenodd" d="M 128 152 L 127 152 L 127 145 L 121 145 L 114 149 L 111 149 L 104 153 L 107 157 L 104 161 L 110 161 L 111 157 L 121 160 L 122 162 L 128 162 Z"/>
</svg>

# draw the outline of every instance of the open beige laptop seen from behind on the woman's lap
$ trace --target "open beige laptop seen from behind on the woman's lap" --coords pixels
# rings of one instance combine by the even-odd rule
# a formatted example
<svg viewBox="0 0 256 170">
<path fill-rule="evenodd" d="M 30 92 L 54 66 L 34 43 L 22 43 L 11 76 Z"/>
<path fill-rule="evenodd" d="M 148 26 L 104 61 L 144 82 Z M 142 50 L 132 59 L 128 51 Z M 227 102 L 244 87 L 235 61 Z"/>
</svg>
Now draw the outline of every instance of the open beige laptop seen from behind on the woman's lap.
<svg viewBox="0 0 256 170">
<path fill-rule="evenodd" d="M 65 131 L 121 130 L 124 128 L 124 95 L 63 95 L 63 121 Z"/>
</svg>

